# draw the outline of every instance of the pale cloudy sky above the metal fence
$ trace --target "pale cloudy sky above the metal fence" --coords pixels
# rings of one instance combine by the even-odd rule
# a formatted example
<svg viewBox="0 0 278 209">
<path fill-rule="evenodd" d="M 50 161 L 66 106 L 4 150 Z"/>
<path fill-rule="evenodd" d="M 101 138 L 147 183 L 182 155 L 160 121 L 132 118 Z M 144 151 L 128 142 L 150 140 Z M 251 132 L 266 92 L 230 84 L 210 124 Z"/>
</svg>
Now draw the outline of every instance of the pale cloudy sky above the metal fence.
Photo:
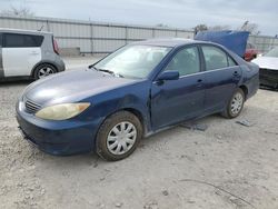
<svg viewBox="0 0 278 209">
<path fill-rule="evenodd" d="M 264 34 L 278 34 L 278 0 L 0 0 L 0 9 L 28 7 L 36 16 L 191 29 L 240 27 L 249 20 Z"/>
</svg>

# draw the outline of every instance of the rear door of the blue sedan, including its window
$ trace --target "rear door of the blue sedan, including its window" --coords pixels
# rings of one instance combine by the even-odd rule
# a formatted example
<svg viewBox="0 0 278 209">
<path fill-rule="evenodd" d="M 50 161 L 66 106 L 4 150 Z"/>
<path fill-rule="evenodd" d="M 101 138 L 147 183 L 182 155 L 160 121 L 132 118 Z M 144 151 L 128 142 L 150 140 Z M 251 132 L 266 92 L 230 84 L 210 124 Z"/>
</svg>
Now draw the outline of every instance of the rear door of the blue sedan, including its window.
<svg viewBox="0 0 278 209">
<path fill-rule="evenodd" d="M 201 49 L 206 66 L 205 107 L 209 112 L 219 111 L 232 96 L 242 71 L 221 48 L 206 44 Z"/>
</svg>

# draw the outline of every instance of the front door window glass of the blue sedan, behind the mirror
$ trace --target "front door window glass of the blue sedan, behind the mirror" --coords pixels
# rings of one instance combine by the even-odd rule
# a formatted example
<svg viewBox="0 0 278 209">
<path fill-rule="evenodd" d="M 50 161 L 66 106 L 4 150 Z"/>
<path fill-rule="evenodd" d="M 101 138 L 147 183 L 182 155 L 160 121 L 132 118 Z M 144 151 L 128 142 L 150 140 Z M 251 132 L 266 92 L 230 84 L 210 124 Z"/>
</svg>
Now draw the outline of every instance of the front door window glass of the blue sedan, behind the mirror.
<svg viewBox="0 0 278 209">
<path fill-rule="evenodd" d="M 168 63 L 165 71 L 176 70 L 179 76 L 191 74 L 200 71 L 200 59 L 197 47 L 180 50 Z"/>
</svg>

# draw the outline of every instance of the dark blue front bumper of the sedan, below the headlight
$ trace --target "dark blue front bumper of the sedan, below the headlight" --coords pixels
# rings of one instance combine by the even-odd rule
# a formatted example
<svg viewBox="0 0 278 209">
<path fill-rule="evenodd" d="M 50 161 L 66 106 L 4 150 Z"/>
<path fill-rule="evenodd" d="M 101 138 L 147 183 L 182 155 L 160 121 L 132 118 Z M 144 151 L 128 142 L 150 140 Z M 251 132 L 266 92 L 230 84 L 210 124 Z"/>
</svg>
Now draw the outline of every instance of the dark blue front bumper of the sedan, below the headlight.
<svg viewBox="0 0 278 209">
<path fill-rule="evenodd" d="M 20 110 L 17 120 L 23 138 L 40 150 L 56 156 L 70 156 L 95 150 L 98 121 L 47 121 Z"/>
</svg>

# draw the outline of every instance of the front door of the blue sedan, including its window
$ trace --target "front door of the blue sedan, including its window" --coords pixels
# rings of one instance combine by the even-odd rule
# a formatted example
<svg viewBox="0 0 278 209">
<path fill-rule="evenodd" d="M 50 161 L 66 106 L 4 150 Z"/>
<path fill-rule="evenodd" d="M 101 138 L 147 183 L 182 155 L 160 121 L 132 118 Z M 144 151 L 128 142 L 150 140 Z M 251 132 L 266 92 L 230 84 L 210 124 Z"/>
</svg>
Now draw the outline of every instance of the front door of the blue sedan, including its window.
<svg viewBox="0 0 278 209">
<path fill-rule="evenodd" d="M 151 121 L 155 130 L 199 116 L 205 102 L 205 76 L 197 47 L 179 50 L 163 71 L 179 71 L 178 80 L 153 81 Z"/>
</svg>

